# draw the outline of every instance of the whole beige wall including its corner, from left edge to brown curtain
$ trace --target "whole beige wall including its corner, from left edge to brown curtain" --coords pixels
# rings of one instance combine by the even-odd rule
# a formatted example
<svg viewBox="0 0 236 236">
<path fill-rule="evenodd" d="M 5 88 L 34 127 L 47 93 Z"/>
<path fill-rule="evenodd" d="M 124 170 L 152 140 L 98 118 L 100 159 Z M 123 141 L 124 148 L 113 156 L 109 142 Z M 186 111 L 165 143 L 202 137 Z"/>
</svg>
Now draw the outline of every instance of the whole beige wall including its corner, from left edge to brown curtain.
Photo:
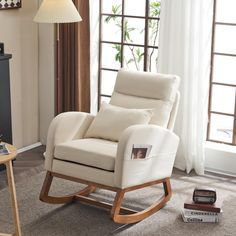
<svg viewBox="0 0 236 236">
<path fill-rule="evenodd" d="M 46 143 L 54 117 L 54 26 L 33 18 L 39 0 L 0 11 L 0 41 L 10 60 L 13 144 Z"/>
</svg>

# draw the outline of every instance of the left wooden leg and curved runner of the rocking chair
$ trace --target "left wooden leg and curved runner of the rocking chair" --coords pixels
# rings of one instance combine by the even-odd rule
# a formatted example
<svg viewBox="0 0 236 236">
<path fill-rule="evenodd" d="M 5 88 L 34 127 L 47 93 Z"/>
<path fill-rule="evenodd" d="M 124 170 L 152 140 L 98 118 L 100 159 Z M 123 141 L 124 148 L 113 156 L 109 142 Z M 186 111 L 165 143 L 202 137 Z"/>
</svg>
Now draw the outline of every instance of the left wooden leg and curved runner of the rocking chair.
<svg viewBox="0 0 236 236">
<path fill-rule="evenodd" d="M 43 186 L 40 192 L 39 199 L 43 202 L 52 203 L 52 204 L 64 204 L 69 203 L 75 199 L 77 195 L 88 196 L 90 193 L 96 190 L 95 186 L 89 185 L 84 189 L 80 190 L 79 192 L 66 195 L 66 196 L 49 196 L 49 190 L 52 184 L 53 175 L 48 171 L 45 180 L 43 182 Z"/>
</svg>

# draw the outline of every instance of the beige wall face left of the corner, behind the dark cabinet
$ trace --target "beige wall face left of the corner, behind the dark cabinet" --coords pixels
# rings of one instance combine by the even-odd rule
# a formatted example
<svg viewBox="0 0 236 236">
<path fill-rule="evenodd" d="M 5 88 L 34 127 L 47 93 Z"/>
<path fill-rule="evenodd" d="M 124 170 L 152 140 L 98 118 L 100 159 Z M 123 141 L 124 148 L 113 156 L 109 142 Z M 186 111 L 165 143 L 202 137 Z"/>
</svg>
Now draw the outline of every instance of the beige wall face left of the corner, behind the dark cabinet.
<svg viewBox="0 0 236 236">
<path fill-rule="evenodd" d="M 13 144 L 20 148 L 39 140 L 37 0 L 0 11 L 0 41 L 10 60 Z M 2 101 L 0 101 L 2 102 Z"/>
</svg>

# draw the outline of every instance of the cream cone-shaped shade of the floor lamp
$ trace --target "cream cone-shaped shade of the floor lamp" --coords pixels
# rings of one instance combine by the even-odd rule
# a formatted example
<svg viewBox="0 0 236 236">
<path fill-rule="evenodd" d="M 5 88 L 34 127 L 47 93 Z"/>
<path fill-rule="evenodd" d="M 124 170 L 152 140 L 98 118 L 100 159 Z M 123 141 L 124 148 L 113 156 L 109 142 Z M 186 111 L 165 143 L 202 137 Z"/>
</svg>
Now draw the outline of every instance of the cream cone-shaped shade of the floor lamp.
<svg viewBox="0 0 236 236">
<path fill-rule="evenodd" d="M 40 23 L 69 23 L 82 21 L 72 0 L 43 0 L 34 17 Z"/>
</svg>

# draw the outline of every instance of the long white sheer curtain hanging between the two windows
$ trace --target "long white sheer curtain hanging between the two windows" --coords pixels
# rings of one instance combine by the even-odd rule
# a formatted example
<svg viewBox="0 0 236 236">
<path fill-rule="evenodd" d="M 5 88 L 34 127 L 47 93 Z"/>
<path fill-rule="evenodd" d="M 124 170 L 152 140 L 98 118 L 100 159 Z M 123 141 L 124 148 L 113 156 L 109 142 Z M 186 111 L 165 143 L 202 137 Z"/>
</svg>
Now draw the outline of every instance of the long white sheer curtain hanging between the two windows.
<svg viewBox="0 0 236 236">
<path fill-rule="evenodd" d="M 181 77 L 175 166 L 204 173 L 213 0 L 163 0 L 159 72 Z"/>
</svg>

